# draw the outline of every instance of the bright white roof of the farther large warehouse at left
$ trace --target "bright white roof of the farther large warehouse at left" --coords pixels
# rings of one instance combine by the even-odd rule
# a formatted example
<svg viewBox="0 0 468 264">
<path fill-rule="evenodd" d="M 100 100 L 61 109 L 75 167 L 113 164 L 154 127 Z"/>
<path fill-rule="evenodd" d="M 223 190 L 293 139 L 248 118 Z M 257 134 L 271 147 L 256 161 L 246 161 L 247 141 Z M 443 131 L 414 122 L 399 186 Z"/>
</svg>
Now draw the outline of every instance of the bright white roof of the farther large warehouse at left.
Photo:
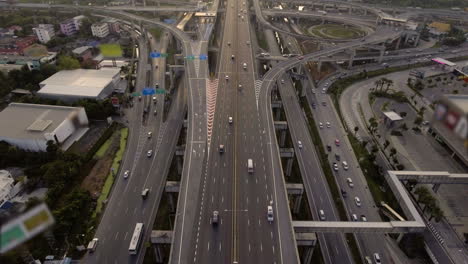
<svg viewBox="0 0 468 264">
<path fill-rule="evenodd" d="M 120 68 L 59 71 L 40 83 L 38 94 L 98 97 L 119 72 Z"/>
</svg>

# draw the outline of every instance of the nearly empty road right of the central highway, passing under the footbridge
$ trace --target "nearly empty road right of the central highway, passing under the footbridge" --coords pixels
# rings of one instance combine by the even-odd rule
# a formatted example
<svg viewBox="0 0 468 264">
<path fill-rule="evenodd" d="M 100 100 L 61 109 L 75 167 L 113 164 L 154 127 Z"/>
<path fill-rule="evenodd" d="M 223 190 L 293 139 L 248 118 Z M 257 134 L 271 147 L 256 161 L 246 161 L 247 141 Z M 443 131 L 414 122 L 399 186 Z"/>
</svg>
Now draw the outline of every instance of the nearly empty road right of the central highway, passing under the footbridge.
<svg viewBox="0 0 468 264">
<path fill-rule="evenodd" d="M 274 56 L 280 56 L 281 52 L 273 32 L 268 29 L 265 31 L 265 35 L 270 52 Z M 327 221 L 340 221 L 292 80 L 288 74 L 282 75 L 280 79 L 281 81 L 277 84 L 311 215 L 315 221 L 320 221 L 319 210 L 323 210 Z M 301 141 L 302 148 L 299 148 L 298 141 Z M 320 250 L 326 263 L 353 263 L 344 235 L 320 233 L 317 235 L 320 241 Z"/>
</svg>

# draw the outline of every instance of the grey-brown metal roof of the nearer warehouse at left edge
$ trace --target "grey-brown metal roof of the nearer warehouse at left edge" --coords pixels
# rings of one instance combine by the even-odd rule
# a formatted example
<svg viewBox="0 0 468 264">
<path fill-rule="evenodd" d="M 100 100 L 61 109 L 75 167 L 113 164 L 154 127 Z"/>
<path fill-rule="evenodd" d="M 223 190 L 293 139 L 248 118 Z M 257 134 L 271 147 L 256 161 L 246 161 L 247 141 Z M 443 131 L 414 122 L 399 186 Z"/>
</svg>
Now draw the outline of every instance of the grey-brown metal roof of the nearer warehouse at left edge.
<svg viewBox="0 0 468 264">
<path fill-rule="evenodd" d="M 11 103 L 0 112 L 0 137 L 45 139 L 82 107 Z"/>
</svg>

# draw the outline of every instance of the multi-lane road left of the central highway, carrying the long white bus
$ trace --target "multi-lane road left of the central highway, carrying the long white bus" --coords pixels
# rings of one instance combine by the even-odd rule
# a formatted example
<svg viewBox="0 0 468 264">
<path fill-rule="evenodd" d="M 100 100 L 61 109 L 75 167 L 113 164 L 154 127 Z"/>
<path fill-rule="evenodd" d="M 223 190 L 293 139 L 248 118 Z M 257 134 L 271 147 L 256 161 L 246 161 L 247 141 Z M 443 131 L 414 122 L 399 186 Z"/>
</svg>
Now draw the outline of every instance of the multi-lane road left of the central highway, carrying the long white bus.
<svg viewBox="0 0 468 264">
<path fill-rule="evenodd" d="M 139 41 L 139 63 L 136 90 L 141 91 L 146 84 L 147 71 L 153 67 L 148 64 L 148 47 L 146 40 Z M 164 63 L 160 66 L 164 70 Z M 157 79 L 153 80 L 154 82 Z M 183 87 L 183 86 L 182 86 Z M 129 121 L 129 138 L 127 150 L 122 162 L 121 170 L 116 175 L 115 184 L 104 211 L 95 237 L 99 238 L 99 250 L 84 257 L 86 263 L 139 263 L 142 261 L 144 250 L 136 256 L 130 256 L 128 247 L 137 222 L 146 224 L 144 237 L 148 238 L 157 207 L 164 188 L 165 178 L 170 167 L 184 117 L 185 91 L 177 90 L 169 117 L 162 123 L 162 114 L 149 114 L 143 117 L 143 108 L 150 107 L 150 113 L 156 108 L 162 113 L 162 103 L 153 104 L 149 96 L 142 101 L 134 99 L 134 107 L 126 111 Z M 148 138 L 147 133 L 153 136 Z M 146 152 L 153 150 L 153 155 L 147 157 Z M 128 179 L 123 178 L 125 170 L 130 171 Z M 150 194 L 146 200 L 141 197 L 143 189 L 149 188 Z M 122 198 L 124 197 L 124 198 Z"/>
</svg>

